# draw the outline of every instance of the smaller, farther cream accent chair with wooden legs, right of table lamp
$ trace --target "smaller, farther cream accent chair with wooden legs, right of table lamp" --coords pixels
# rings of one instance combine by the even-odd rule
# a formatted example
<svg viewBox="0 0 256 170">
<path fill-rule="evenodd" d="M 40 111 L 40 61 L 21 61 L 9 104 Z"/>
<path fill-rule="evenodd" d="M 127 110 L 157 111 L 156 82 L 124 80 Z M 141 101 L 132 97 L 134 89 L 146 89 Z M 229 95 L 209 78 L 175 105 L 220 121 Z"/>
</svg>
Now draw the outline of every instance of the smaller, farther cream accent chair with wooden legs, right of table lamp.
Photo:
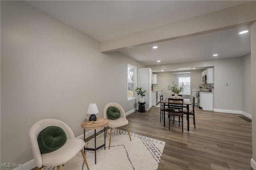
<svg viewBox="0 0 256 170">
<path fill-rule="evenodd" d="M 108 108 L 110 106 L 117 107 L 120 110 L 121 115 L 120 115 L 119 119 L 116 119 L 116 120 L 108 119 L 107 110 L 108 110 Z M 120 127 L 126 125 L 127 132 L 129 134 L 130 140 L 132 141 L 132 138 L 130 136 L 130 132 L 129 132 L 129 129 L 128 129 L 128 123 L 129 122 L 126 119 L 126 115 L 125 115 L 124 109 L 118 103 L 108 103 L 108 104 L 106 104 L 105 107 L 104 107 L 104 110 L 103 110 L 103 117 L 105 119 L 108 119 L 108 127 L 106 129 L 106 135 L 105 136 L 107 136 L 108 128 L 110 128 L 110 137 L 109 137 L 108 149 L 110 149 L 111 136 L 112 136 L 112 128 L 119 128 L 119 134 L 120 134 Z"/>
</svg>

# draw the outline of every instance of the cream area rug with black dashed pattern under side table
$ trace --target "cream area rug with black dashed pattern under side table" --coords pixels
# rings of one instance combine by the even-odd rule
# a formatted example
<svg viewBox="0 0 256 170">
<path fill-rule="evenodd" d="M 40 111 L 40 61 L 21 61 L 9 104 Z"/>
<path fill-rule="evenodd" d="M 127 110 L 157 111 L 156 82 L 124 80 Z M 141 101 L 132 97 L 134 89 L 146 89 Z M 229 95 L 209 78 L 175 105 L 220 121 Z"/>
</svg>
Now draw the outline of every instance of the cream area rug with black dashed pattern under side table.
<svg viewBox="0 0 256 170">
<path fill-rule="evenodd" d="M 86 150 L 86 160 L 90 170 L 156 170 L 160 162 L 165 142 L 118 129 L 112 130 L 110 149 L 109 132 L 104 147 L 95 152 Z M 104 144 L 104 133 L 96 136 L 96 147 Z M 86 147 L 94 148 L 94 138 L 86 142 Z M 57 167 L 45 167 L 44 170 L 56 170 Z M 61 170 L 86 170 L 82 154 L 79 152 L 72 160 L 60 167 Z"/>
</svg>

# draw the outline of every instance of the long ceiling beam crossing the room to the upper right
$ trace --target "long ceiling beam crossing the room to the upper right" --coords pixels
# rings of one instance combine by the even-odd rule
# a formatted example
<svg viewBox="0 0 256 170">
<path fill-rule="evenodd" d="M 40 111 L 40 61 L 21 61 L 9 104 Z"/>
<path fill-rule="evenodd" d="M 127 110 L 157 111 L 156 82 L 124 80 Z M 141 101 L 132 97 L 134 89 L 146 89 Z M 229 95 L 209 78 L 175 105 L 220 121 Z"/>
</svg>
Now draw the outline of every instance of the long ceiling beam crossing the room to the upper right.
<svg viewBox="0 0 256 170">
<path fill-rule="evenodd" d="M 249 2 L 172 24 L 103 41 L 100 42 L 100 51 L 106 53 L 123 48 L 170 41 L 250 25 L 252 22 L 256 21 L 255 11 L 256 2 Z"/>
</svg>

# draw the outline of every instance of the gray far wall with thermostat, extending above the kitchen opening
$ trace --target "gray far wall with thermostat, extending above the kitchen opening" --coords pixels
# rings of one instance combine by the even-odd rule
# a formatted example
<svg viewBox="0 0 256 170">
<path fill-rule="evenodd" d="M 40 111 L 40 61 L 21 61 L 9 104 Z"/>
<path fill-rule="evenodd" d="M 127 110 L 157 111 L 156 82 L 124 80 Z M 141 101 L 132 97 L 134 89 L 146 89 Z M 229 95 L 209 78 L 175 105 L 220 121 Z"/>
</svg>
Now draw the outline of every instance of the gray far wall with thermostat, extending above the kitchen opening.
<svg viewBox="0 0 256 170">
<path fill-rule="evenodd" d="M 146 67 L 150 67 L 152 70 L 214 67 L 214 109 L 242 111 L 242 57 Z M 250 81 L 249 77 L 248 81 Z M 225 86 L 225 83 L 229 83 L 230 85 Z M 198 88 L 198 85 L 195 88 Z M 251 113 L 248 114 L 251 115 Z"/>
</svg>

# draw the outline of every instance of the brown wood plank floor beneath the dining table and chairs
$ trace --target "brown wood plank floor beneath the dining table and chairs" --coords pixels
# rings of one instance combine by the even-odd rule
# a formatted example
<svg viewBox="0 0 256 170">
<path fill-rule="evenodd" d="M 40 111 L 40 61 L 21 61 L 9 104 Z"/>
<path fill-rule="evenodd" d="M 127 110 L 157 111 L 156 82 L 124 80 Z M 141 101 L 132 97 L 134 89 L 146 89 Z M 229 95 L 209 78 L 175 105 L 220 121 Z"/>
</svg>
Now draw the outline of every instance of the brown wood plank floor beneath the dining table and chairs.
<svg viewBox="0 0 256 170">
<path fill-rule="evenodd" d="M 168 129 L 160 123 L 160 108 L 134 112 L 126 118 L 130 132 L 166 142 L 158 170 L 252 170 L 252 123 L 242 115 L 202 111 L 195 107 L 196 128 L 184 118 Z M 122 127 L 126 131 L 126 127 Z"/>
</svg>

